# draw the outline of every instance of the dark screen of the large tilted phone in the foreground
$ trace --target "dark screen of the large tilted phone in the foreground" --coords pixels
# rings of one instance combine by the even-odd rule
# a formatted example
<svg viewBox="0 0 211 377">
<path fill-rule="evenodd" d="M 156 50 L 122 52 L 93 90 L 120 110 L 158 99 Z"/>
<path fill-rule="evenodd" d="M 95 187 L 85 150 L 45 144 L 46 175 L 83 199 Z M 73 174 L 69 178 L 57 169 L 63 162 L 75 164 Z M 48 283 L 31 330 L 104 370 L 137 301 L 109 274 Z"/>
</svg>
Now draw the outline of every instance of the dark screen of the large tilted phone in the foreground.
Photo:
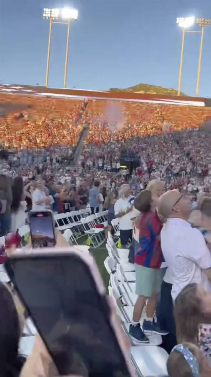
<svg viewBox="0 0 211 377">
<path fill-rule="evenodd" d="M 106 297 L 81 258 L 14 257 L 5 267 L 61 375 L 130 375 Z"/>
</svg>

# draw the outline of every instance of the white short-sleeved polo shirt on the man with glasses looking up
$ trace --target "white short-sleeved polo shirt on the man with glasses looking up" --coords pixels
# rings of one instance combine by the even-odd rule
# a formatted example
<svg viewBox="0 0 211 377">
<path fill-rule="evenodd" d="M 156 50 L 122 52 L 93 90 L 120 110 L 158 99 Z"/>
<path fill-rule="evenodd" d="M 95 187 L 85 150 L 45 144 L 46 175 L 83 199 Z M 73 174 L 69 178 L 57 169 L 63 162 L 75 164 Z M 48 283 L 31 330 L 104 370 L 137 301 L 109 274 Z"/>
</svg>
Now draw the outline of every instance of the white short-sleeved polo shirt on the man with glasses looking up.
<svg viewBox="0 0 211 377">
<path fill-rule="evenodd" d="M 183 219 L 167 219 L 161 230 L 161 249 L 173 284 L 173 300 L 189 283 L 202 284 L 206 291 L 211 291 L 202 271 L 211 267 L 211 254 L 198 229 Z"/>
</svg>

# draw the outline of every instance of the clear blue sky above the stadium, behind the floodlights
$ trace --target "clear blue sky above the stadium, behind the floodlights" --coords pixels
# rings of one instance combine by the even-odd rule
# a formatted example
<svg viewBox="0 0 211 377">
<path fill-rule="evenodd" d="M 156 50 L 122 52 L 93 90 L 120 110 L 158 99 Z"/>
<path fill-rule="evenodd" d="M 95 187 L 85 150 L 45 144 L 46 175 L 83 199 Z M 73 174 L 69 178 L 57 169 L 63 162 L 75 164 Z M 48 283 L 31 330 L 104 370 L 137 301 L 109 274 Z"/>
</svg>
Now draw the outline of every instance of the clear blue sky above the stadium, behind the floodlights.
<svg viewBox="0 0 211 377">
<path fill-rule="evenodd" d="M 49 20 L 43 8 L 74 6 L 67 87 L 139 83 L 178 87 L 182 30 L 176 17 L 211 18 L 209 0 L 1 0 L 0 80 L 45 85 Z M 197 26 L 196 26 L 197 29 Z M 53 25 L 49 86 L 62 87 L 67 25 Z M 200 34 L 185 35 L 181 90 L 195 95 Z M 211 27 L 205 28 L 199 95 L 211 97 Z"/>
</svg>

